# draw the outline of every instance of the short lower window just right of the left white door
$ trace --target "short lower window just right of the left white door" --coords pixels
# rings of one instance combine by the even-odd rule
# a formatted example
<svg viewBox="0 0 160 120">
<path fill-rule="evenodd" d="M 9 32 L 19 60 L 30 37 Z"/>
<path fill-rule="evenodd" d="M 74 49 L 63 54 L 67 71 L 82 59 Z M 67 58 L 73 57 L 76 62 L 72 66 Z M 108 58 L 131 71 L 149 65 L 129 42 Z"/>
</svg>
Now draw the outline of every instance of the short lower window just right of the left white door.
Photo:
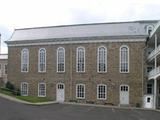
<svg viewBox="0 0 160 120">
<path fill-rule="evenodd" d="M 85 99 L 85 85 L 84 84 L 76 85 L 76 97 L 78 99 Z"/>
</svg>

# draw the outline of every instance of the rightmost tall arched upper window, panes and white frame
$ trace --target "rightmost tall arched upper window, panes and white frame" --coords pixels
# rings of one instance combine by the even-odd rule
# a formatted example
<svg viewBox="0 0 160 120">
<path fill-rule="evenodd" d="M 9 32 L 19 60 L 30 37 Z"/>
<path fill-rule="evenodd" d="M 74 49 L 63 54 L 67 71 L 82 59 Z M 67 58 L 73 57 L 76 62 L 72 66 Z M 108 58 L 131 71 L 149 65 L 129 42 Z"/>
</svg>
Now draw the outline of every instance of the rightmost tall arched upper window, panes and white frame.
<svg viewBox="0 0 160 120">
<path fill-rule="evenodd" d="M 127 46 L 120 48 L 120 72 L 129 72 L 129 48 Z"/>
</svg>

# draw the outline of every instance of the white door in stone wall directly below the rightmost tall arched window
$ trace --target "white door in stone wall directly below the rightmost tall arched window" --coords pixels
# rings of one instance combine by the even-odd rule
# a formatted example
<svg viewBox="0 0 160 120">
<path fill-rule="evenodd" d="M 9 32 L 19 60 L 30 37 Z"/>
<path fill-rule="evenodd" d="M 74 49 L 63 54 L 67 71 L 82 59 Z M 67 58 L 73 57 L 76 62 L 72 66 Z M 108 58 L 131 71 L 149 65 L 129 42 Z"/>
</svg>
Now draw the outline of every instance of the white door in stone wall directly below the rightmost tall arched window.
<svg viewBox="0 0 160 120">
<path fill-rule="evenodd" d="M 129 104 L 129 86 L 128 85 L 120 86 L 120 104 L 121 105 Z"/>
</svg>

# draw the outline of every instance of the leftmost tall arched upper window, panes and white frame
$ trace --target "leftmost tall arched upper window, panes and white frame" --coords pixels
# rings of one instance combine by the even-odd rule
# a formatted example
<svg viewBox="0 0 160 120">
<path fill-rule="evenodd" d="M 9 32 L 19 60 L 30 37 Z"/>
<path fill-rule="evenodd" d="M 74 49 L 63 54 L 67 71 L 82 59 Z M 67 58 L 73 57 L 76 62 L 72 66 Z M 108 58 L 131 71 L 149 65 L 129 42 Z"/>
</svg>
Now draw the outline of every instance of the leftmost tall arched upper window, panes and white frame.
<svg viewBox="0 0 160 120">
<path fill-rule="evenodd" d="M 28 72 L 29 68 L 29 50 L 23 49 L 21 51 L 21 72 Z"/>
</svg>

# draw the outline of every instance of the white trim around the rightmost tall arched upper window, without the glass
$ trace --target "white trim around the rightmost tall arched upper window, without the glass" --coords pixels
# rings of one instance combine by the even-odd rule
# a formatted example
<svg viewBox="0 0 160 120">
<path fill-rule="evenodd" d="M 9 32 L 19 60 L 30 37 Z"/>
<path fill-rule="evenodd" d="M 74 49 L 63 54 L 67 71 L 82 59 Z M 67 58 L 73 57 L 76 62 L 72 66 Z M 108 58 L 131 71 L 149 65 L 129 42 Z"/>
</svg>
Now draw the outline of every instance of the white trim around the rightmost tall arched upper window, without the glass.
<svg viewBox="0 0 160 120">
<path fill-rule="evenodd" d="M 123 48 L 123 47 L 126 47 L 127 49 L 128 49 L 128 71 L 127 72 L 122 72 L 121 71 L 121 48 Z M 129 73 L 129 71 L 130 71 L 130 59 L 129 59 L 129 57 L 130 57 L 130 50 L 129 50 L 129 47 L 127 46 L 127 45 L 122 45 L 120 48 L 119 48 L 119 72 L 120 73 Z"/>
</svg>

